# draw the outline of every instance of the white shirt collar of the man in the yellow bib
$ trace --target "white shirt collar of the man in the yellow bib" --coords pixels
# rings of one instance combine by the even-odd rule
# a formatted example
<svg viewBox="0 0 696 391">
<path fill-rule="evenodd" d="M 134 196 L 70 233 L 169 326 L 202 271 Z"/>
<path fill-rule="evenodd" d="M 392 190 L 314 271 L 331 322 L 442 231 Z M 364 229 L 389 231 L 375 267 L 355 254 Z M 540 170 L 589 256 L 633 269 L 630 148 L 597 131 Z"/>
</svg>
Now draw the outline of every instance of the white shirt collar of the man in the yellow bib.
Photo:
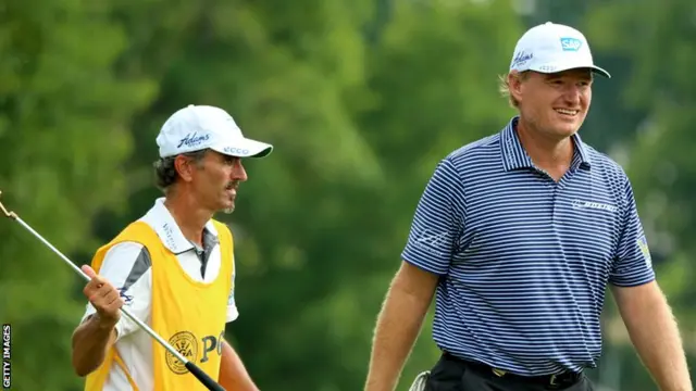
<svg viewBox="0 0 696 391">
<path fill-rule="evenodd" d="M 142 217 L 142 220 L 154 229 L 164 247 L 174 254 L 181 254 L 194 249 L 194 243 L 186 239 L 176 220 L 164 206 L 164 198 L 159 198 L 154 201 L 154 205 Z M 206 223 L 203 235 L 211 235 L 217 239 L 217 230 L 212 219 Z"/>
</svg>

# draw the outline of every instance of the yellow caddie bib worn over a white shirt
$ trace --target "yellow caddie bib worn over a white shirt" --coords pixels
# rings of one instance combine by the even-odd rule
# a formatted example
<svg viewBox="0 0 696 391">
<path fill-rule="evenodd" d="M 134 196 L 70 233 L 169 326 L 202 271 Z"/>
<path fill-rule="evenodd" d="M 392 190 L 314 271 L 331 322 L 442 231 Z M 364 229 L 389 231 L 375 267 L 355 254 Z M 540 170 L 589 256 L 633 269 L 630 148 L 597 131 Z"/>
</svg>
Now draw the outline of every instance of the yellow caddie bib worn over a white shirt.
<svg viewBox="0 0 696 391">
<path fill-rule="evenodd" d="M 225 331 L 227 298 L 234 268 L 232 232 L 226 225 L 213 220 L 220 239 L 221 267 L 210 283 L 190 278 L 181 263 L 144 222 L 128 225 L 116 238 L 97 250 L 91 267 L 99 273 L 104 255 L 114 244 L 134 241 L 145 245 L 152 262 L 152 303 L 150 327 L 186 360 L 195 363 L 217 381 Z M 125 316 L 125 315 L 124 315 Z M 154 390 L 207 390 L 183 363 L 152 339 Z M 87 376 L 85 391 L 101 391 L 113 365 L 126 374 L 138 390 L 115 346 L 104 362 Z"/>
</svg>

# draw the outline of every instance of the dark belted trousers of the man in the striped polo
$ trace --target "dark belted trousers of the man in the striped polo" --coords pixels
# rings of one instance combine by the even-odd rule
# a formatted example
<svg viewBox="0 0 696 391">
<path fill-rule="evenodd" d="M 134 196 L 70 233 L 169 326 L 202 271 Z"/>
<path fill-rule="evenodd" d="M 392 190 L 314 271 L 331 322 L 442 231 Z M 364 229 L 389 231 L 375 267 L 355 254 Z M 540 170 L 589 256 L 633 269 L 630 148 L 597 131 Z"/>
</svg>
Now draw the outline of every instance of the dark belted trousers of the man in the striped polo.
<svg viewBox="0 0 696 391">
<path fill-rule="evenodd" d="M 431 370 L 425 391 L 594 391 L 584 374 L 534 378 L 495 370 L 444 354 Z"/>
</svg>

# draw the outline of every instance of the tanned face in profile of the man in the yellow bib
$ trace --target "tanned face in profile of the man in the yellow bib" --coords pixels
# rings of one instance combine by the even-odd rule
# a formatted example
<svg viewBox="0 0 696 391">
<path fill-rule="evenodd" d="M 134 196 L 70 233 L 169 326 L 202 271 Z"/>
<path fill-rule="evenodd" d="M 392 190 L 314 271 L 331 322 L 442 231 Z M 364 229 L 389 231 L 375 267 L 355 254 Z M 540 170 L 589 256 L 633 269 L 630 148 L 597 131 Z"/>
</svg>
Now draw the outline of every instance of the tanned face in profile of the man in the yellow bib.
<svg viewBox="0 0 696 391">
<path fill-rule="evenodd" d="M 208 151 L 191 173 L 191 188 L 202 207 L 232 213 L 239 184 L 247 180 L 241 159 Z"/>
</svg>

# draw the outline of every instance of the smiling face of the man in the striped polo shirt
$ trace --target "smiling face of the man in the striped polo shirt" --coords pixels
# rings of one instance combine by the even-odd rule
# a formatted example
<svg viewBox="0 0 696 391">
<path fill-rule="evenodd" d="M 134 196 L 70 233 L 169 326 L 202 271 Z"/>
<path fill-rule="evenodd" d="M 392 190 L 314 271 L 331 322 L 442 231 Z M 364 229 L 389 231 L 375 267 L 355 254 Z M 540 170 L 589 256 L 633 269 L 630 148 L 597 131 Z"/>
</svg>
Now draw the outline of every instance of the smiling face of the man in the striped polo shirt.
<svg viewBox="0 0 696 391">
<path fill-rule="evenodd" d="M 520 115 L 535 130 L 563 139 L 580 129 L 592 101 L 592 72 L 586 68 L 555 74 L 529 72 L 511 84 Z"/>
</svg>

